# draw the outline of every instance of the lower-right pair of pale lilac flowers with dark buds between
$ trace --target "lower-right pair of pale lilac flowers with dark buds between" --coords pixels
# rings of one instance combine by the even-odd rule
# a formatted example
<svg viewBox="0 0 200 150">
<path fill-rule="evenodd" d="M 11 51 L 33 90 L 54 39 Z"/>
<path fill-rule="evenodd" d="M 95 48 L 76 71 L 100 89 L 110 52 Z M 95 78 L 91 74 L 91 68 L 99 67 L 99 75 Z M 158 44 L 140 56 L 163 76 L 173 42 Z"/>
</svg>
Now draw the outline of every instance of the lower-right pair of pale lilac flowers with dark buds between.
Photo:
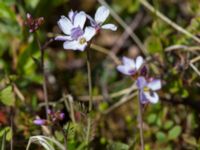
<svg viewBox="0 0 200 150">
<path fill-rule="evenodd" d="M 136 78 L 139 98 L 142 104 L 148 102 L 157 103 L 159 96 L 156 91 L 161 89 L 161 81 L 160 79 L 146 77 L 147 71 L 144 63 L 144 59 L 141 56 L 138 56 L 136 60 L 123 57 L 122 65 L 117 66 L 117 70 L 125 75 Z"/>
</svg>

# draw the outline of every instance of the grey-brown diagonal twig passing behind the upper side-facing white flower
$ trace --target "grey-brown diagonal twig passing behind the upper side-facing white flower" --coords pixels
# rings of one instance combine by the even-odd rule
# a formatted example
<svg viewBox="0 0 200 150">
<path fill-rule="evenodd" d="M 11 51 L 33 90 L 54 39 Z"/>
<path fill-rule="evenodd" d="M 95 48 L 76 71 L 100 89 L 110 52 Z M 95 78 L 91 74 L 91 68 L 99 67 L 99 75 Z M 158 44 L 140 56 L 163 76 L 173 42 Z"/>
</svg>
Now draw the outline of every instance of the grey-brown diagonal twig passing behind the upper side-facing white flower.
<svg viewBox="0 0 200 150">
<path fill-rule="evenodd" d="M 101 5 L 106 6 L 109 10 L 113 18 L 126 30 L 126 32 L 130 35 L 130 37 L 135 41 L 135 43 L 138 45 L 138 47 L 141 49 L 142 53 L 144 55 L 147 54 L 147 50 L 144 47 L 141 40 L 138 38 L 138 36 L 132 31 L 132 29 L 121 19 L 121 17 L 105 2 L 105 0 L 98 0 L 98 2 Z"/>
</svg>

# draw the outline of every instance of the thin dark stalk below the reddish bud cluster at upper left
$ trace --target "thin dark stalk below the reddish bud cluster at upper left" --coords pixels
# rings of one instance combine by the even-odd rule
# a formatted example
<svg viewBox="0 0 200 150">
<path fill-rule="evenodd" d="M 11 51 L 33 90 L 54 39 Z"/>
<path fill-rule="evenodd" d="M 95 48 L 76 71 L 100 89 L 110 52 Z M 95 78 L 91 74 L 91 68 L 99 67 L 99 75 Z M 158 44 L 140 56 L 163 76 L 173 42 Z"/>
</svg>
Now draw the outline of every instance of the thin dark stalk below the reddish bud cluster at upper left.
<svg viewBox="0 0 200 150">
<path fill-rule="evenodd" d="M 35 34 L 35 38 L 37 40 L 38 47 L 40 49 L 41 57 L 41 70 L 43 74 L 43 92 L 44 92 L 44 101 L 45 101 L 45 110 L 46 110 L 46 118 L 48 119 L 48 110 L 49 110 L 49 100 L 48 100 L 48 94 L 47 94 L 47 80 L 46 80 L 46 72 L 45 72 L 45 67 L 44 67 L 44 48 L 41 46 L 40 40 L 37 36 L 37 33 Z"/>
</svg>

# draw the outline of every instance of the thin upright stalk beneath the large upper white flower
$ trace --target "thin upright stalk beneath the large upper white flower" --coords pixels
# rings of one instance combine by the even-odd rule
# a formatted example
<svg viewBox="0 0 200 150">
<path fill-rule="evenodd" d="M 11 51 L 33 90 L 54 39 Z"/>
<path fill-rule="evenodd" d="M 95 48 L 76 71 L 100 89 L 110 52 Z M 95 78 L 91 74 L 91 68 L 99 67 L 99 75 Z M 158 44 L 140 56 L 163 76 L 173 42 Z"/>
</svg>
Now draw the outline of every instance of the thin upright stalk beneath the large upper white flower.
<svg viewBox="0 0 200 150">
<path fill-rule="evenodd" d="M 89 86 L 89 113 L 92 111 L 92 77 L 91 77 L 91 64 L 90 64 L 90 49 L 87 49 L 87 72 L 88 72 L 88 86 Z M 89 144 L 90 140 L 90 130 L 91 130 L 91 117 L 88 117 L 87 122 L 87 135 L 86 141 Z"/>
</svg>

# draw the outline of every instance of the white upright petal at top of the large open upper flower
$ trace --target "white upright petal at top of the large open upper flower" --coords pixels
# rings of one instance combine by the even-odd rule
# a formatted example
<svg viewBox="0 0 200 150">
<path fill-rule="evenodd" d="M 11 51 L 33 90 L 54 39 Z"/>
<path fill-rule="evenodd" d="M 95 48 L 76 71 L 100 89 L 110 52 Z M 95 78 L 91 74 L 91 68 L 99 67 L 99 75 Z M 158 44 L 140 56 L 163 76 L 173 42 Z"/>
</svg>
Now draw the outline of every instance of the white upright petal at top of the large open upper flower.
<svg viewBox="0 0 200 150">
<path fill-rule="evenodd" d="M 81 11 L 77 13 L 74 17 L 74 26 L 83 29 L 85 21 L 86 21 L 86 14 L 83 11 Z"/>
</svg>

